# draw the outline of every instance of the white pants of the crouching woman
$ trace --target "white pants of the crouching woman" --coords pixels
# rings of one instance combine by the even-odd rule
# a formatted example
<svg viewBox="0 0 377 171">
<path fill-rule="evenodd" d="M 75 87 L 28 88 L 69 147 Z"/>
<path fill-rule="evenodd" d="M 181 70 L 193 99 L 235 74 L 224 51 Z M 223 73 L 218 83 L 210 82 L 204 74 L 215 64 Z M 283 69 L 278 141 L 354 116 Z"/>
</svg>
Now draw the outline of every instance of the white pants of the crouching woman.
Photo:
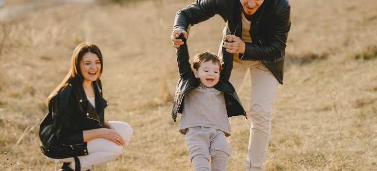
<svg viewBox="0 0 377 171">
<path fill-rule="evenodd" d="M 109 121 L 117 130 L 118 134 L 123 137 L 125 144 L 131 140 L 133 130 L 130 125 L 119 121 Z M 78 156 L 80 159 L 81 171 L 89 170 L 93 167 L 103 165 L 116 159 L 123 150 L 123 146 L 119 146 L 112 141 L 97 138 L 87 143 L 88 155 Z M 48 160 L 55 163 L 71 163 L 75 169 L 74 158 L 54 159 L 47 157 Z"/>
</svg>

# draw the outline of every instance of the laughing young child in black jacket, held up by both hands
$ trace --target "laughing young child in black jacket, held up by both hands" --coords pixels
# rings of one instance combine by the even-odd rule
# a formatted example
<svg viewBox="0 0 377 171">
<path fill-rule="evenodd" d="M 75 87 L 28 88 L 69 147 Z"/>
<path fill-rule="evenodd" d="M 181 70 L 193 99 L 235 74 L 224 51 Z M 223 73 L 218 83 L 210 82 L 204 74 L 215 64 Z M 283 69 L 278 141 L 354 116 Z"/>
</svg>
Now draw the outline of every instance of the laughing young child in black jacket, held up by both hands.
<svg viewBox="0 0 377 171">
<path fill-rule="evenodd" d="M 226 171 L 232 153 L 226 140 L 231 135 L 228 117 L 246 117 L 236 90 L 228 81 L 233 54 L 223 47 L 220 61 L 211 52 L 200 53 L 194 57 L 192 70 L 186 38 L 181 34 L 178 39 L 184 44 L 177 48 L 180 78 L 172 117 L 176 121 L 177 113 L 182 113 L 179 132 L 185 135 L 193 170 Z"/>
</svg>

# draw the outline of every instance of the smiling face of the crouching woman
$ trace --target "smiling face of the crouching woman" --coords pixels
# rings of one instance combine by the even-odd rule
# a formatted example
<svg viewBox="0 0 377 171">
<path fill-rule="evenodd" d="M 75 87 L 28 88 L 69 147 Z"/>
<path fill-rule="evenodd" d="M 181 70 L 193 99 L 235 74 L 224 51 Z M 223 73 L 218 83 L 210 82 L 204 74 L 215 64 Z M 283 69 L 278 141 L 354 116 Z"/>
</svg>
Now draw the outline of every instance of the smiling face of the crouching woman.
<svg viewBox="0 0 377 171">
<path fill-rule="evenodd" d="M 80 61 L 80 70 L 83 82 L 94 82 L 101 72 L 101 61 L 96 54 L 87 52 Z"/>
</svg>

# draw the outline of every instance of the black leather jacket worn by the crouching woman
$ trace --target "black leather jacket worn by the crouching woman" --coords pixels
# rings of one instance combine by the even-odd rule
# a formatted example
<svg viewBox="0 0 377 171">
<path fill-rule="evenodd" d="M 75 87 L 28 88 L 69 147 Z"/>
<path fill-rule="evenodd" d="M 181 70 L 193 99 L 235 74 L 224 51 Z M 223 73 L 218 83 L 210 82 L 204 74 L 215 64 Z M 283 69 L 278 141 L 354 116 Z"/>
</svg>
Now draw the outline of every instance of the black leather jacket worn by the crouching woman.
<svg viewBox="0 0 377 171">
<path fill-rule="evenodd" d="M 42 152 L 51 158 L 88 155 L 83 130 L 104 127 L 104 109 L 109 105 L 102 98 L 101 81 L 93 82 L 95 108 L 89 103 L 82 85 L 81 97 L 76 96 L 71 83 L 60 89 L 48 104 L 49 112 L 40 126 Z M 78 99 L 77 99 L 78 97 Z M 78 102 L 83 109 L 80 110 Z"/>
</svg>

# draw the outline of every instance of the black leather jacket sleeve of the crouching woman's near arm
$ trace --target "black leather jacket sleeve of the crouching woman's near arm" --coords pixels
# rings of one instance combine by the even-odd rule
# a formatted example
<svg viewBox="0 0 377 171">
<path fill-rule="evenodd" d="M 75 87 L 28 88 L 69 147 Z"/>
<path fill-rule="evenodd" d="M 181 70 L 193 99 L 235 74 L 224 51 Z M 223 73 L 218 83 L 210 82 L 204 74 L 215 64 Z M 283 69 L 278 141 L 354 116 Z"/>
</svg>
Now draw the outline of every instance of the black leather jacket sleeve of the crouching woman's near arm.
<svg viewBox="0 0 377 171">
<path fill-rule="evenodd" d="M 74 115 L 78 110 L 76 105 L 76 97 L 74 91 L 71 90 L 67 105 L 61 105 L 58 99 L 58 107 L 53 115 L 54 128 L 56 131 L 56 138 L 59 144 L 62 145 L 77 145 L 84 143 L 84 136 L 82 130 L 73 130 L 73 124 L 76 122 Z"/>
</svg>

